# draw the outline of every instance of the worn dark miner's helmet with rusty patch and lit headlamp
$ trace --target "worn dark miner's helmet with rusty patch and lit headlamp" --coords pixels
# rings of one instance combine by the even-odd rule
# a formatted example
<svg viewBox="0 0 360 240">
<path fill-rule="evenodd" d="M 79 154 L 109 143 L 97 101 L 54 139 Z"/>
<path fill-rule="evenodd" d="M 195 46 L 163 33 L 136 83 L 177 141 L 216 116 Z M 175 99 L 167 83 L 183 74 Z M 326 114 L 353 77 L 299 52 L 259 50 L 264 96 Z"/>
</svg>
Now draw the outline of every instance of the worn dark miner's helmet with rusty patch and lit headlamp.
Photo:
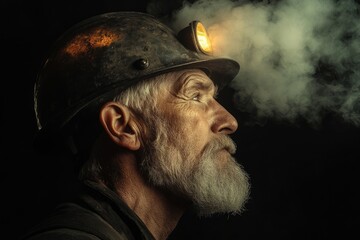
<svg viewBox="0 0 360 240">
<path fill-rule="evenodd" d="M 199 21 L 176 34 L 140 12 L 104 13 L 74 25 L 54 43 L 36 79 L 39 135 L 60 131 L 89 106 L 166 72 L 202 69 L 222 88 L 240 66 L 214 57 L 206 37 Z"/>
</svg>

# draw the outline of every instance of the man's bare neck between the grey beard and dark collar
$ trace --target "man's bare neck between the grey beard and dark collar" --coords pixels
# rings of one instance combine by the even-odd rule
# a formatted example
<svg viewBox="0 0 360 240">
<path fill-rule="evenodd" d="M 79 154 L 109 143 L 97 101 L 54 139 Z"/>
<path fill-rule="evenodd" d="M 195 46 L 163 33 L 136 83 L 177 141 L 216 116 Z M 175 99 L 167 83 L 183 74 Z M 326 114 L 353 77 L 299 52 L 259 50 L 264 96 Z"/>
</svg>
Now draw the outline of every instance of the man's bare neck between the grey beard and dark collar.
<svg viewBox="0 0 360 240">
<path fill-rule="evenodd" d="M 145 182 L 136 159 L 119 163 L 123 173 L 117 182 L 117 194 L 144 222 L 157 240 L 165 240 L 174 230 L 185 210 L 183 201 Z"/>
</svg>

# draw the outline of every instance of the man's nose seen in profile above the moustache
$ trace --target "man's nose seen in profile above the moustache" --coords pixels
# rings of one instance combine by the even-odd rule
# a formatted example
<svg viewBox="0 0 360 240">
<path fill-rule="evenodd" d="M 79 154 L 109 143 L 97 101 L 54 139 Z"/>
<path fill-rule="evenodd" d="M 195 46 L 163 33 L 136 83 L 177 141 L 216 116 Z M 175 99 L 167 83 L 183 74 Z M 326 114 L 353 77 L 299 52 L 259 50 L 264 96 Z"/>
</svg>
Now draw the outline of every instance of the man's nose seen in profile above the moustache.
<svg viewBox="0 0 360 240">
<path fill-rule="evenodd" d="M 212 125 L 214 133 L 232 134 L 238 128 L 238 122 L 220 103 L 217 103 L 215 121 Z"/>
</svg>

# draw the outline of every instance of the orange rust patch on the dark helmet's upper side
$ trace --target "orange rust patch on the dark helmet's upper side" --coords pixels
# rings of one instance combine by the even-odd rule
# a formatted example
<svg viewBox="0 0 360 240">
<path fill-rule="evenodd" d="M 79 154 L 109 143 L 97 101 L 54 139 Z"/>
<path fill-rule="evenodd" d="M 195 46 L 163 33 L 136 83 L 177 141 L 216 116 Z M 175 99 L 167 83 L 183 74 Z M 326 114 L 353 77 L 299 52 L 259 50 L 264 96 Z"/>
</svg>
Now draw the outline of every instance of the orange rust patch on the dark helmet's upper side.
<svg viewBox="0 0 360 240">
<path fill-rule="evenodd" d="M 102 48 L 111 45 L 120 39 L 120 36 L 108 29 L 94 29 L 94 31 L 76 36 L 67 44 L 65 53 L 76 57 L 86 54 L 94 48 Z"/>
</svg>

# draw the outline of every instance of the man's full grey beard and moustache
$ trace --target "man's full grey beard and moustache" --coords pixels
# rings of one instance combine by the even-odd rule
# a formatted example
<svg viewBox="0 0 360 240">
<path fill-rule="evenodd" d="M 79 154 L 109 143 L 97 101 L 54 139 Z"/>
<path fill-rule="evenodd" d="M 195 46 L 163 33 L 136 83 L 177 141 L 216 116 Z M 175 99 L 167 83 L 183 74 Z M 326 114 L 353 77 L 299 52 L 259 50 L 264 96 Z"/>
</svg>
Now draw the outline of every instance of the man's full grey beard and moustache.
<svg viewBox="0 0 360 240">
<path fill-rule="evenodd" d="M 235 153 L 230 137 L 213 139 L 200 159 L 189 159 L 191 146 L 170 144 L 176 133 L 159 118 L 153 124 L 157 126 L 155 138 L 145 143 L 142 170 L 154 186 L 189 200 L 199 216 L 244 210 L 250 193 L 247 173 L 230 154 L 221 165 L 216 157 L 224 148 Z"/>
</svg>

